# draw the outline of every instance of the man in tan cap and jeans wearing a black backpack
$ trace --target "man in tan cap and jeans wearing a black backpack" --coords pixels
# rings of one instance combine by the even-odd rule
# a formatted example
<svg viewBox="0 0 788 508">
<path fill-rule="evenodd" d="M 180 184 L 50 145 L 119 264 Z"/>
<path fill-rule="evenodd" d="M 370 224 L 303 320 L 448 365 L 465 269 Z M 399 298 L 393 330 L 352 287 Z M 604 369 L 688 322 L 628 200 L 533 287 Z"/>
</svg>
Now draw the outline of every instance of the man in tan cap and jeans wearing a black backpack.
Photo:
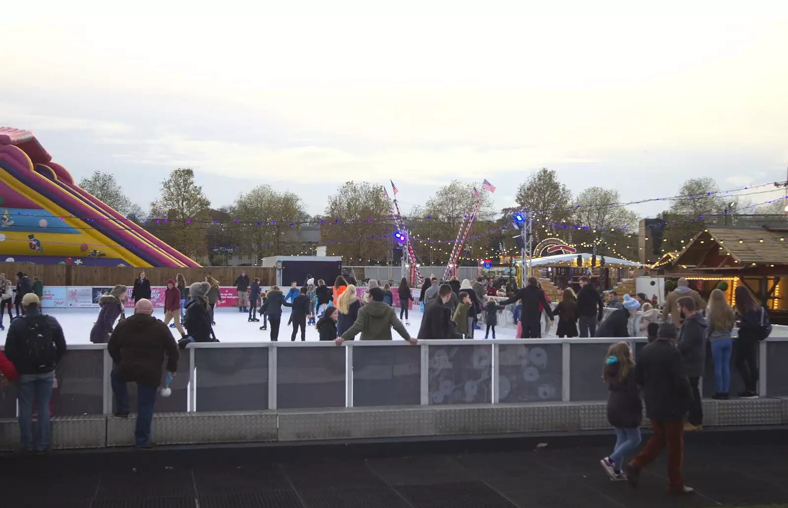
<svg viewBox="0 0 788 508">
<path fill-rule="evenodd" d="M 49 446 L 50 412 L 54 368 L 65 354 L 65 336 L 58 320 L 42 314 L 35 293 L 22 298 L 24 315 L 11 321 L 6 336 L 6 357 L 19 373 L 19 433 L 22 450 L 46 453 Z M 33 400 L 39 422 L 33 435 Z"/>
</svg>

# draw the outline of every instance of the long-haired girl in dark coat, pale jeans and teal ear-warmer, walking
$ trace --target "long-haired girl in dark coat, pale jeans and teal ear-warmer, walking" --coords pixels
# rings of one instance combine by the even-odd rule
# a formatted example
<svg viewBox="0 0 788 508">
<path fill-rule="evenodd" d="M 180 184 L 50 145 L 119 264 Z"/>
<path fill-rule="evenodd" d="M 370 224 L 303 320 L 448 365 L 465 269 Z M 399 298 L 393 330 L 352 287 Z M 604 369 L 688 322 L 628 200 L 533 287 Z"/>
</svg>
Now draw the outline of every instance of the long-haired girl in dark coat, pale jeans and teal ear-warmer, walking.
<svg viewBox="0 0 788 508">
<path fill-rule="evenodd" d="M 600 463 L 611 480 L 626 480 L 621 471 L 624 454 L 633 451 L 641 442 L 640 426 L 643 405 L 637 392 L 635 363 L 630 345 L 611 344 L 604 361 L 602 379 L 608 384 L 608 421 L 615 428 L 615 447 Z"/>
</svg>

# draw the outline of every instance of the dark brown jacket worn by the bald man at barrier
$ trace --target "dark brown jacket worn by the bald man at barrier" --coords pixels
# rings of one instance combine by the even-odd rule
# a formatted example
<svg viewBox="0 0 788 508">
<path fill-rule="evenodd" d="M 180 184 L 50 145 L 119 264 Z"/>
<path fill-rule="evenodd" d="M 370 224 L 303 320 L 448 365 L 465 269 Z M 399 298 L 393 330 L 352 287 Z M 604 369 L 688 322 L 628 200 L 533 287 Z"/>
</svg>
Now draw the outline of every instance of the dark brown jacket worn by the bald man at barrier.
<svg viewBox="0 0 788 508">
<path fill-rule="evenodd" d="M 171 373 L 178 369 L 180 352 L 173 334 L 150 314 L 134 314 L 117 324 L 106 349 L 125 381 L 158 387 L 165 353 L 166 369 Z"/>
</svg>

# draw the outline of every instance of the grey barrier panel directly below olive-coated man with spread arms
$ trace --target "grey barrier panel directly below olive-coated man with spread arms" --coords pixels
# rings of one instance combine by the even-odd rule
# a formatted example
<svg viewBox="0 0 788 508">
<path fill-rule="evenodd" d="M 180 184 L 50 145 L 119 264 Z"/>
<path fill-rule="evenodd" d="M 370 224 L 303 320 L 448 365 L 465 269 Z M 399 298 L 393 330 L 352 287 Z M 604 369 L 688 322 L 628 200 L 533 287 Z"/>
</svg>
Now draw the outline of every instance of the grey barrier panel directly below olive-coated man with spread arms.
<svg viewBox="0 0 788 508">
<path fill-rule="evenodd" d="M 353 406 L 408 406 L 421 402 L 418 347 L 353 347 Z"/>
</svg>

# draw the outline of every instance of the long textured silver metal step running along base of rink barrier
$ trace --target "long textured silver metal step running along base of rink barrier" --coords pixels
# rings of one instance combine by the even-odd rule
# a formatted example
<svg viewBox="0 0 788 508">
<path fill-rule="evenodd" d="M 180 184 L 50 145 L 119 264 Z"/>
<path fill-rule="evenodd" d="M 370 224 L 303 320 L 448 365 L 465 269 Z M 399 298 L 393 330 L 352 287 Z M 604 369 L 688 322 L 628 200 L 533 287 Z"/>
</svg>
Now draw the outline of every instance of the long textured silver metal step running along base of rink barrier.
<svg viewBox="0 0 788 508">
<path fill-rule="evenodd" d="M 606 402 L 527 402 L 319 410 L 159 413 L 160 444 L 259 443 L 419 436 L 485 436 L 609 428 Z M 704 426 L 788 425 L 788 398 L 704 400 Z M 54 449 L 134 445 L 136 417 L 53 417 Z M 649 427 L 644 418 L 643 427 Z M 0 419 L 0 451 L 19 448 L 16 419 Z"/>
</svg>

